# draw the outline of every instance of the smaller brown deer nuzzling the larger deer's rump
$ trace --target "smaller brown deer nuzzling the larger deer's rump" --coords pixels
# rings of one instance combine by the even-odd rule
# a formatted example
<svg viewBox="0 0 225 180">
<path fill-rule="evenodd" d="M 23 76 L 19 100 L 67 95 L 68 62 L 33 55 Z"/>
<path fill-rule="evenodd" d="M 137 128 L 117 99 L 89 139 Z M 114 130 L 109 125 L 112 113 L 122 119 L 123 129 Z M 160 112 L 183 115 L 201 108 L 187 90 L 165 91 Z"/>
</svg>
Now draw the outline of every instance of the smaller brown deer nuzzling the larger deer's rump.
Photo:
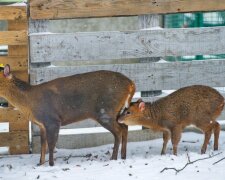
<svg viewBox="0 0 225 180">
<path fill-rule="evenodd" d="M 201 153 L 205 153 L 212 132 L 214 132 L 214 150 L 218 150 L 220 125 L 216 118 L 224 107 L 223 96 L 208 86 L 194 85 L 181 88 L 170 95 L 152 103 L 138 100 L 131 103 L 119 118 L 119 123 L 143 125 L 163 132 L 165 154 L 169 139 L 173 145 L 173 154 L 177 155 L 177 146 L 183 129 L 195 125 L 205 134 Z"/>
</svg>

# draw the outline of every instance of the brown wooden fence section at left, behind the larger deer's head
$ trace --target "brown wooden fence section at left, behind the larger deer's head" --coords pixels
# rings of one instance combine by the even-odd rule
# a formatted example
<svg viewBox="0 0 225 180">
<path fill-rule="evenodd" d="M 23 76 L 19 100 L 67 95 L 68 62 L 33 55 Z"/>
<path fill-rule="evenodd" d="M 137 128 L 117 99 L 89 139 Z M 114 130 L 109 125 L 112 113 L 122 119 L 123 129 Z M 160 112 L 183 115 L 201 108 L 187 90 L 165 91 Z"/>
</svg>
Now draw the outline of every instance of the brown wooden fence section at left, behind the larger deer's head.
<svg viewBox="0 0 225 180">
<path fill-rule="evenodd" d="M 0 6 L 0 20 L 8 24 L 7 31 L 0 31 L 0 46 L 8 46 L 8 54 L 0 56 L 0 64 L 10 64 L 18 78 L 28 81 L 26 6 Z M 0 147 L 9 147 L 10 154 L 29 153 L 28 120 L 9 105 L 0 108 L 0 125 L 2 123 L 8 124 L 8 128 L 0 132 Z"/>
</svg>

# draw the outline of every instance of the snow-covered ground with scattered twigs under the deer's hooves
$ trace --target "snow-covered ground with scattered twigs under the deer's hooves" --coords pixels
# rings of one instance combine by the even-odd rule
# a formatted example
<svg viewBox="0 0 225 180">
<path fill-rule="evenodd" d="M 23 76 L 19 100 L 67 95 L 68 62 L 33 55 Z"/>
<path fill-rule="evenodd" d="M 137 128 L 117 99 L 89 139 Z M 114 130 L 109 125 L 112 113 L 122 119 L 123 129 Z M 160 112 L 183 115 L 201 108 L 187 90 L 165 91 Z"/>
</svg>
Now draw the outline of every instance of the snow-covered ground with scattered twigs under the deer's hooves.
<svg viewBox="0 0 225 180">
<path fill-rule="evenodd" d="M 225 178 L 225 160 L 213 165 L 214 162 L 225 157 L 225 132 L 221 132 L 219 151 L 213 151 L 213 138 L 205 155 L 201 155 L 200 148 L 203 135 L 197 133 L 183 133 L 179 143 L 178 156 L 172 155 L 171 143 L 167 154 L 160 155 L 162 139 L 145 142 L 129 142 L 127 159 L 109 160 L 112 153 L 112 144 L 84 148 L 84 149 L 57 149 L 54 157 L 55 166 L 50 167 L 48 162 L 37 166 L 39 154 L 4 155 L 0 157 L 0 179 L 64 179 L 64 180 L 115 180 L 115 179 L 151 179 L 151 180 L 206 180 Z M 221 153 L 209 159 L 188 165 L 183 171 L 175 173 L 165 167 L 182 168 L 187 162 Z M 46 160 L 48 156 L 46 155 Z"/>
</svg>

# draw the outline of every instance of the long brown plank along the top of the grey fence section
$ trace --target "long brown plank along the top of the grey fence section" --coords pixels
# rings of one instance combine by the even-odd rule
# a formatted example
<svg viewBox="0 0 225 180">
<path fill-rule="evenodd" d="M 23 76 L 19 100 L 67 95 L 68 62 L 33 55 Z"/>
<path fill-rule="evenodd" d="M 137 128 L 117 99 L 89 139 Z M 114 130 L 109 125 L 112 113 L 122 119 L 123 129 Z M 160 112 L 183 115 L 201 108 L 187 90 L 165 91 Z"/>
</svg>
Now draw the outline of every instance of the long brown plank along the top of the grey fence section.
<svg viewBox="0 0 225 180">
<path fill-rule="evenodd" d="M 224 0 L 30 0 L 32 19 L 129 16 L 225 10 Z"/>
</svg>

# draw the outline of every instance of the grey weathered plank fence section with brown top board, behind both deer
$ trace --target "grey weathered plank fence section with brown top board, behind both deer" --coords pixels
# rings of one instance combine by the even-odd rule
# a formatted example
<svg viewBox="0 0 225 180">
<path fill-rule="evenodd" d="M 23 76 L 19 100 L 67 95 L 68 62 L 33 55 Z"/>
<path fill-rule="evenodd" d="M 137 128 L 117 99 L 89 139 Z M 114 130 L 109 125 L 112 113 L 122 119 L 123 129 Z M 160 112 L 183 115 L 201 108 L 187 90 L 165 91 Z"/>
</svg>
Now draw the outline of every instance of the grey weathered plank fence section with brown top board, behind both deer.
<svg viewBox="0 0 225 180">
<path fill-rule="evenodd" d="M 30 0 L 30 82 L 36 85 L 58 77 L 105 69 L 127 75 L 136 83 L 137 91 L 178 89 L 192 84 L 225 87 L 224 60 L 165 63 L 142 61 L 149 57 L 225 53 L 225 27 L 143 29 L 159 26 L 158 14 L 216 10 L 225 10 L 225 0 Z M 48 30 L 52 20 L 133 15 L 139 15 L 140 30 L 74 33 L 49 33 Z M 132 63 L 128 59 L 142 60 Z M 99 60 L 103 63 L 85 63 L 92 61 L 95 64 Z M 110 64 L 109 60 L 115 61 Z M 51 65 L 58 61 L 83 62 L 83 65 Z M 62 127 L 61 132 L 65 129 L 98 126 L 86 120 Z M 113 142 L 110 133 L 84 132 L 90 131 L 83 129 L 83 132 L 76 131 L 72 135 L 60 134 L 57 147 L 80 148 Z M 133 130 L 129 132 L 129 141 L 158 136 L 159 133 L 149 130 Z M 39 151 L 39 141 L 39 131 L 33 126 L 33 152 Z"/>
</svg>

